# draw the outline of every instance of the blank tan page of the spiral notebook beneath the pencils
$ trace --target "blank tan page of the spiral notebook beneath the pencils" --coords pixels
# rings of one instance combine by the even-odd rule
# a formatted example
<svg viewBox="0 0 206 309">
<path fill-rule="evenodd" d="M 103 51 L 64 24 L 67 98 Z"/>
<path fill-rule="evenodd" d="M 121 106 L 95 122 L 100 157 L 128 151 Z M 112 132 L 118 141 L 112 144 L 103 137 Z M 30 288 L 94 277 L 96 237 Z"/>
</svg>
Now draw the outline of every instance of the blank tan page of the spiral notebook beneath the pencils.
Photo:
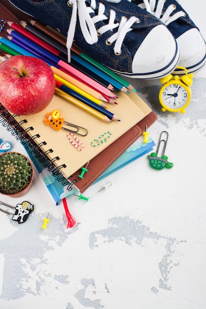
<svg viewBox="0 0 206 309">
<path fill-rule="evenodd" d="M 139 98 L 139 96 L 135 94 L 135 102 L 133 100 L 134 94 L 132 95 L 132 99 L 130 99 L 129 94 L 121 92 L 118 93 L 118 105 L 107 104 L 109 106 L 109 111 L 118 116 L 121 121 L 102 121 L 57 95 L 54 95 L 49 106 L 42 112 L 35 115 L 16 116 L 15 118 L 18 122 L 23 119 L 27 119 L 27 123 L 21 124 L 22 127 L 24 129 L 27 129 L 30 126 L 34 128 L 32 131 L 28 131 L 28 134 L 31 136 L 36 134 L 40 135 L 39 138 L 35 139 L 35 142 L 37 144 L 44 141 L 46 142 L 46 145 L 41 146 L 41 149 L 44 152 L 48 149 L 53 150 L 53 152 L 49 153 L 47 156 L 50 160 L 56 156 L 59 157 L 59 160 L 55 161 L 55 165 L 66 165 L 65 168 L 61 169 L 61 172 L 67 178 L 82 166 L 85 166 L 89 160 L 107 148 L 134 124 L 147 115 L 147 112 L 144 111 L 144 105 L 146 104 L 143 104 L 143 101 Z M 141 108 L 138 107 L 138 102 Z M 46 125 L 44 123 L 46 113 L 51 113 L 56 109 L 59 110 L 60 117 L 63 117 L 65 121 L 84 127 L 88 130 L 88 134 L 86 136 L 79 136 L 75 134 L 84 146 L 82 151 L 79 151 L 76 147 L 74 147 L 74 145 L 72 145 L 72 143 L 70 143 L 67 138 L 67 134 L 69 132 L 62 129 L 57 131 L 50 125 Z M 94 139 L 108 131 L 111 132 L 111 136 L 106 142 L 96 147 L 91 145 L 91 142 Z M 108 135 L 109 134 L 105 134 L 105 136 Z"/>
</svg>

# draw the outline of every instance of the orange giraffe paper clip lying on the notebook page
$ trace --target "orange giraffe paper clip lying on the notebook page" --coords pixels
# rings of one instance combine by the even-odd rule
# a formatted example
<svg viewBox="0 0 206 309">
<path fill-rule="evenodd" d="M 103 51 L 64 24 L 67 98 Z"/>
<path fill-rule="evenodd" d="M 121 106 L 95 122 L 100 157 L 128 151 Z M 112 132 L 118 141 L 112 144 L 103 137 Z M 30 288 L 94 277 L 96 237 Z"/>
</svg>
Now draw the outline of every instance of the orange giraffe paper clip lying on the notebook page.
<svg viewBox="0 0 206 309">
<path fill-rule="evenodd" d="M 64 121 L 64 118 L 60 117 L 59 110 L 54 110 L 52 113 L 46 113 L 46 118 L 44 118 L 44 122 L 46 125 L 50 124 L 52 128 L 58 131 L 62 129 L 72 133 L 76 133 L 81 136 L 86 136 L 88 133 L 87 129 L 79 125 Z M 63 127 L 63 124 L 67 125 L 68 127 L 71 127 L 72 129 Z"/>
</svg>

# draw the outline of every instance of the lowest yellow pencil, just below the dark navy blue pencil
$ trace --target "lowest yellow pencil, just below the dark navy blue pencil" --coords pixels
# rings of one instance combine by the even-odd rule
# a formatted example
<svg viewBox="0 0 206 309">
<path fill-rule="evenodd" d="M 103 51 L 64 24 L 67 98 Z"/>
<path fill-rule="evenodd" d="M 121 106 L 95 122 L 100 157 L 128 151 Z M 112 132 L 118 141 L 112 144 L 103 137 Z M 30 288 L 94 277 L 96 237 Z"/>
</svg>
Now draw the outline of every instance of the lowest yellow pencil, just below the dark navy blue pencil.
<svg viewBox="0 0 206 309">
<path fill-rule="evenodd" d="M 94 109 L 92 109 L 91 107 L 89 107 L 88 105 L 82 103 L 81 101 L 73 98 L 71 95 L 67 94 L 66 92 L 62 91 L 59 88 L 55 88 L 55 93 L 57 95 L 59 95 L 60 97 L 62 97 L 63 99 L 69 101 L 70 103 L 80 107 L 82 110 L 84 110 L 85 112 L 99 118 L 100 120 L 106 121 L 106 122 L 111 122 L 110 119 L 107 116 L 104 116 L 103 114 L 99 113 L 98 111 L 95 111 Z"/>
</svg>

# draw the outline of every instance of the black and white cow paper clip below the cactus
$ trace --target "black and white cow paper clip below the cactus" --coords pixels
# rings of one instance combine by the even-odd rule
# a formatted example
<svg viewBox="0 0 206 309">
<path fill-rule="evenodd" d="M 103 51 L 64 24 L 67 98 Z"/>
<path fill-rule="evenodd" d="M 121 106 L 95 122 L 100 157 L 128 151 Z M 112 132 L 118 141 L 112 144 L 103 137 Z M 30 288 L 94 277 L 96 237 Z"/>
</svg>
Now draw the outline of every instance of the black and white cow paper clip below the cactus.
<svg viewBox="0 0 206 309">
<path fill-rule="evenodd" d="M 1 206 L 4 206 L 5 208 L 3 209 Z M 15 209 L 15 213 L 8 211 L 6 209 L 7 207 Z M 12 220 L 17 221 L 20 224 L 27 221 L 29 214 L 31 214 L 31 212 L 34 210 L 34 205 L 32 205 L 30 202 L 23 201 L 21 204 L 17 204 L 16 207 L 14 207 L 0 201 L 0 210 L 6 214 L 13 215 Z"/>
</svg>

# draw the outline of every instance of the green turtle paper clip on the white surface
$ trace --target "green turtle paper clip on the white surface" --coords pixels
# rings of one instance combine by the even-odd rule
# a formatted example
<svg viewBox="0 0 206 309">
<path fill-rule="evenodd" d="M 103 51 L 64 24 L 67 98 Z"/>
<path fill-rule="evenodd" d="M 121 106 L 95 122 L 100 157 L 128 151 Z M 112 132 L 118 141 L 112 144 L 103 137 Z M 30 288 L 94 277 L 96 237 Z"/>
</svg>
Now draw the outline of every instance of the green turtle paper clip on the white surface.
<svg viewBox="0 0 206 309">
<path fill-rule="evenodd" d="M 165 139 L 162 139 L 163 133 L 166 134 Z M 160 135 L 160 140 L 159 140 L 159 143 L 158 143 L 157 152 L 151 153 L 150 155 L 147 156 L 147 158 L 149 160 L 149 165 L 153 169 L 156 169 L 156 170 L 162 170 L 164 168 L 170 169 L 173 166 L 173 163 L 167 161 L 168 157 L 165 155 L 165 148 L 166 148 L 167 139 L 168 139 L 168 133 L 166 131 L 163 131 Z M 161 143 L 164 143 L 163 151 L 162 151 L 161 156 L 158 156 L 158 152 L 159 152 L 159 148 L 160 148 Z"/>
</svg>

